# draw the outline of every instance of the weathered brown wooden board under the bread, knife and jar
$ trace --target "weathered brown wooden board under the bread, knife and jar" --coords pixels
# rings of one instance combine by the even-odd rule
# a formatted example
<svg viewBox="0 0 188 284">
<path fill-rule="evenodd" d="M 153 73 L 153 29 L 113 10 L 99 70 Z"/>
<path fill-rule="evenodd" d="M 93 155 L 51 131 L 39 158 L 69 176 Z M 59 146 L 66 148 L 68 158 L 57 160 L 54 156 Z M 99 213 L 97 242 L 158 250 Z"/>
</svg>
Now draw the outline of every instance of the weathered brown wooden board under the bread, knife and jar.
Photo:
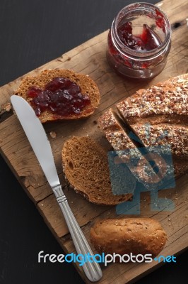
<svg viewBox="0 0 188 284">
<path fill-rule="evenodd" d="M 48 68 L 70 68 L 76 72 L 90 75 L 100 89 L 100 107 L 98 107 L 95 114 L 89 119 L 83 121 L 62 121 L 45 125 L 45 131 L 52 145 L 54 160 L 63 186 L 66 186 L 61 168 L 61 148 L 64 141 L 73 135 L 88 135 L 93 137 L 98 143 L 101 143 L 102 146 L 107 147 L 107 141 L 102 137 L 102 133 L 98 129 L 97 124 L 101 114 L 118 101 L 134 94 L 137 89 L 147 88 L 157 82 L 163 82 L 169 77 L 188 72 L 187 0 L 164 0 L 160 2 L 158 6 L 167 13 L 170 23 L 172 24 L 172 48 L 165 70 L 150 82 L 129 82 L 129 80 L 123 80 L 114 73 L 107 64 L 105 57 L 107 31 L 74 48 L 74 50 L 69 51 L 60 58 L 52 60 L 30 72 L 30 75 L 37 75 L 41 70 Z M 71 241 L 59 205 L 52 194 L 52 190 L 42 173 L 40 165 L 25 137 L 25 133 L 23 133 L 18 119 L 13 115 L 12 109 L 10 110 L 10 96 L 13 94 L 14 89 L 18 87 L 23 77 L 6 84 L 0 89 L 1 155 L 3 155 L 11 170 L 16 175 L 16 178 L 18 178 L 20 185 L 22 185 L 23 189 L 28 193 L 30 199 L 35 202 L 37 209 L 40 211 L 40 214 L 42 214 L 47 226 L 49 226 L 49 229 L 52 231 L 57 241 L 59 241 L 61 247 L 66 253 L 70 253 L 75 251 L 74 244 Z M 51 131 L 57 134 L 56 138 L 50 136 Z M 91 204 L 69 188 L 65 188 L 64 192 L 89 243 L 90 226 L 92 226 L 96 220 L 116 217 L 115 207 Z M 152 212 L 150 209 L 149 192 L 143 192 L 141 193 L 140 217 L 153 217 L 161 222 L 168 234 L 168 242 L 162 254 L 168 256 L 180 253 L 180 251 L 187 248 L 188 244 L 187 176 L 185 175 L 177 180 L 175 189 L 163 190 L 161 194 L 163 197 L 170 198 L 175 202 L 175 209 L 170 212 Z M 138 215 L 136 216 L 138 217 Z M 127 217 L 130 217 L 130 215 Z M 162 263 L 158 263 L 157 261 L 139 264 L 111 264 L 107 267 L 102 267 L 103 277 L 99 283 L 132 283 L 161 264 Z M 83 280 L 85 280 L 86 283 L 90 283 L 90 281 L 86 279 L 82 268 L 78 265 L 76 265 L 76 268 Z"/>
</svg>

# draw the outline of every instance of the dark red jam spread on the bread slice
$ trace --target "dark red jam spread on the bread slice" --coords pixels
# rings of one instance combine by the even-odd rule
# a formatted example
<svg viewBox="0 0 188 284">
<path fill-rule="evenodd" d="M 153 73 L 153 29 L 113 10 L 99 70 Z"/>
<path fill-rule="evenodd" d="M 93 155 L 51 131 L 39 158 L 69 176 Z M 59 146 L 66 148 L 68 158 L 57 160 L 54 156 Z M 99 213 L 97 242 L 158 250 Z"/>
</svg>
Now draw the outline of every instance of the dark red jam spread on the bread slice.
<svg viewBox="0 0 188 284">
<path fill-rule="evenodd" d="M 31 104 L 37 116 L 42 111 L 61 116 L 80 114 L 90 104 L 88 94 L 81 94 L 78 84 L 63 77 L 54 78 L 44 89 L 30 87 L 27 96 L 32 98 Z"/>
</svg>

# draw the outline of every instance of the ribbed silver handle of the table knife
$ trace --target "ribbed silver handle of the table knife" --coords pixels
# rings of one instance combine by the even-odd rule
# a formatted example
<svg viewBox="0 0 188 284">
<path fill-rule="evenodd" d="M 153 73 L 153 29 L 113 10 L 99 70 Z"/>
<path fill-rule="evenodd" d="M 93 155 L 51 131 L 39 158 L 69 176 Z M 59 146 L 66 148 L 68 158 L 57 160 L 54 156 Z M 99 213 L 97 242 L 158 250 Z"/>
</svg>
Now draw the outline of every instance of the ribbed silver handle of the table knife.
<svg viewBox="0 0 188 284">
<path fill-rule="evenodd" d="M 61 185 L 53 187 L 52 190 L 57 202 L 59 203 L 61 212 L 64 214 L 64 219 L 66 220 L 66 224 L 74 241 L 74 246 L 76 247 L 77 253 L 83 256 L 87 256 L 87 253 L 89 253 L 90 256 L 93 256 L 93 251 L 90 249 L 88 241 L 83 235 L 83 232 L 81 231 L 81 228 L 78 225 L 71 208 L 69 207 L 69 203 L 66 200 L 66 196 L 64 195 Z M 90 281 L 95 282 L 102 278 L 102 271 L 97 262 L 86 261 L 82 267 Z"/>
</svg>

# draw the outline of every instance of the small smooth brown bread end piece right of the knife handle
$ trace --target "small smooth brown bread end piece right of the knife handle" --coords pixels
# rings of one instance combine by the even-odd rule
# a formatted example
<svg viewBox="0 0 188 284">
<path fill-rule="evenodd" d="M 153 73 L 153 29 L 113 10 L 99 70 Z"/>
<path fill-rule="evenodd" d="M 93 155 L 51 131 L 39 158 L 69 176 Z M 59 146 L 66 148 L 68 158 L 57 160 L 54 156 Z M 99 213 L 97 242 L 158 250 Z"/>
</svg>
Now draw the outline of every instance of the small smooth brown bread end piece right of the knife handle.
<svg viewBox="0 0 188 284">
<path fill-rule="evenodd" d="M 155 257 L 165 246 L 167 234 L 152 218 L 104 219 L 91 227 L 90 241 L 99 253 L 151 253 Z"/>
</svg>

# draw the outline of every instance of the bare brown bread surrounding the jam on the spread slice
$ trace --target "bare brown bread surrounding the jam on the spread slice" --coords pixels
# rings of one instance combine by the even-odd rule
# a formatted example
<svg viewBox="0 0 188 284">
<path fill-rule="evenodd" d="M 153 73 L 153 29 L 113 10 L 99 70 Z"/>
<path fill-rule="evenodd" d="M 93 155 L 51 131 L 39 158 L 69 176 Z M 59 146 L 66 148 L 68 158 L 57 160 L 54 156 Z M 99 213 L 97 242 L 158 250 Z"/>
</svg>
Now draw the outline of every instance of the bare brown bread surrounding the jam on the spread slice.
<svg viewBox="0 0 188 284">
<path fill-rule="evenodd" d="M 84 107 L 80 113 L 71 114 L 69 116 L 56 114 L 47 109 L 42 111 L 42 113 L 38 116 L 40 121 L 45 123 L 47 121 L 83 119 L 93 114 L 100 103 L 100 92 L 98 86 L 88 75 L 78 74 L 73 70 L 43 70 L 36 76 L 25 77 L 25 79 L 23 79 L 23 81 L 20 83 L 18 89 L 15 91 L 15 94 L 23 97 L 23 99 L 26 99 L 31 104 L 32 98 L 28 97 L 27 95 L 28 89 L 30 89 L 30 87 L 44 89 L 47 83 L 51 82 L 57 77 L 67 78 L 78 84 L 78 86 L 81 88 L 81 94 L 88 95 L 90 104 Z"/>
</svg>

